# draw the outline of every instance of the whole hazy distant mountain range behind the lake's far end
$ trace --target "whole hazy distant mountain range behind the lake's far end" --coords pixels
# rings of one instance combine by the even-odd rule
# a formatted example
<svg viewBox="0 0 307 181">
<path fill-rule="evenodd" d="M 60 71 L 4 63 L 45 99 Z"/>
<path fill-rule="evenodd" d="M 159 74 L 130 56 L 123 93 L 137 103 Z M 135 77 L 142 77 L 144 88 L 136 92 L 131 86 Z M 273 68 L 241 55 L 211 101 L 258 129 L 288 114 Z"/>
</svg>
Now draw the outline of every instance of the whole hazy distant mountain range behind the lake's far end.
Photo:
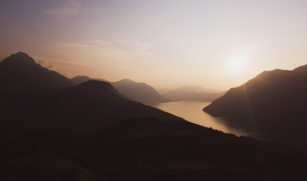
<svg viewBox="0 0 307 181">
<path fill-rule="evenodd" d="M 110 82 L 105 79 L 90 78 L 87 76 L 76 76 L 70 79 L 75 84 L 79 85 L 82 82 L 89 80 L 99 80 L 111 83 L 115 89 L 132 100 L 141 102 L 143 104 L 154 104 L 170 101 L 182 101 L 182 100 L 197 100 L 212 102 L 213 100 L 223 96 L 227 91 L 218 91 L 214 89 L 206 89 L 201 85 L 184 85 L 176 89 L 160 89 L 162 92 L 166 92 L 160 95 L 153 87 L 143 82 L 135 82 L 130 79 L 123 79 L 117 82 Z"/>
</svg>

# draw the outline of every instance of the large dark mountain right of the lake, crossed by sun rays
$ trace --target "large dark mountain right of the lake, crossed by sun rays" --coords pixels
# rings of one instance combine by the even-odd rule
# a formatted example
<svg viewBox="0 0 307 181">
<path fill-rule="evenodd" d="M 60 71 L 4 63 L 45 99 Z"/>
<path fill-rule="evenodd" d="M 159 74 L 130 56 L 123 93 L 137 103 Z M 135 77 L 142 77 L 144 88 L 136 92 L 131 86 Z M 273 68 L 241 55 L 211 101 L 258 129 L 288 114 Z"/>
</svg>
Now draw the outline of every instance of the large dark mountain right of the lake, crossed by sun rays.
<svg viewBox="0 0 307 181">
<path fill-rule="evenodd" d="M 264 71 L 203 111 L 250 125 L 275 141 L 307 146 L 307 74 L 294 70 Z"/>
</svg>

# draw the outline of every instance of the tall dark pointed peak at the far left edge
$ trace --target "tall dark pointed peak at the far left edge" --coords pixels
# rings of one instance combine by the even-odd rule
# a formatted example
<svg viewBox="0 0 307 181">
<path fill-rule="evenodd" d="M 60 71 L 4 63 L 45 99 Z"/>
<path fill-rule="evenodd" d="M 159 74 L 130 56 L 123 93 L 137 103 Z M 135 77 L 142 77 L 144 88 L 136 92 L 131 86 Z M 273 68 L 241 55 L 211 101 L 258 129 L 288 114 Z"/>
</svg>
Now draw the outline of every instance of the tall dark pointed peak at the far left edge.
<svg viewBox="0 0 307 181">
<path fill-rule="evenodd" d="M 75 84 L 18 52 L 0 62 L 0 85 L 0 93 L 52 93 Z"/>
</svg>

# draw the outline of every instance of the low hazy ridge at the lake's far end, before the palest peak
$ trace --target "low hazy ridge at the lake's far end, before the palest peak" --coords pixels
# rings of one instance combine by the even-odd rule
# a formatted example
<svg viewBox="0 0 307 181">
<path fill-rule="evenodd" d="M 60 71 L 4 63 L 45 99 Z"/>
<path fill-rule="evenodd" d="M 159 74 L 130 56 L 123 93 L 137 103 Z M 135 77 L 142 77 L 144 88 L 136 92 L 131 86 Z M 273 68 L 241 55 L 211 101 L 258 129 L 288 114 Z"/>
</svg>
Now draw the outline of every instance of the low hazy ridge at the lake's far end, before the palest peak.
<svg viewBox="0 0 307 181">
<path fill-rule="evenodd" d="M 223 96 L 227 91 L 220 92 L 220 93 L 207 93 L 207 92 L 188 92 L 185 95 L 179 97 L 177 100 L 199 100 L 199 101 L 205 101 L 205 102 L 212 102 L 213 100 L 216 100 L 217 98 Z"/>
</svg>

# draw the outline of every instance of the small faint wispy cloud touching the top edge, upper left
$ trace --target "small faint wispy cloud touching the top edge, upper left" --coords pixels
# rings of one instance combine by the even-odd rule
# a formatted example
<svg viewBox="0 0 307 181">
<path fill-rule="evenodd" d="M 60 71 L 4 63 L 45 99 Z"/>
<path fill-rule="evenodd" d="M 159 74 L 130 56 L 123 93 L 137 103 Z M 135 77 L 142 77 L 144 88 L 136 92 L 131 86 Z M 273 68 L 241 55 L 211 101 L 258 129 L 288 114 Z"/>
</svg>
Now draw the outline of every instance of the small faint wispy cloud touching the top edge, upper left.
<svg viewBox="0 0 307 181">
<path fill-rule="evenodd" d="M 76 0 L 69 0 L 63 6 L 57 6 L 53 9 L 47 9 L 43 12 L 45 14 L 53 15 L 59 19 L 65 19 L 69 16 L 74 16 L 79 14 L 80 11 L 80 3 Z"/>
</svg>

